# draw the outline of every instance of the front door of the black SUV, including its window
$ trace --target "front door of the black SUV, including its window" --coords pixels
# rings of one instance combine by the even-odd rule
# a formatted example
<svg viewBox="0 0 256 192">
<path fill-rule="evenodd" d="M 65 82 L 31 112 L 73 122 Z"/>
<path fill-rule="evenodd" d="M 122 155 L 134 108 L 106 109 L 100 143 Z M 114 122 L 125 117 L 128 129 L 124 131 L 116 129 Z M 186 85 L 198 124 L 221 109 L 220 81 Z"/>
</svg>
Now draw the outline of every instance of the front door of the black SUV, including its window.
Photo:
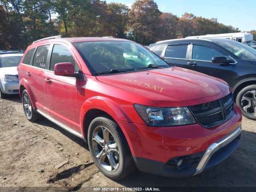
<svg viewBox="0 0 256 192">
<path fill-rule="evenodd" d="M 214 56 L 227 56 L 227 54 L 214 45 L 201 42 L 192 43 L 187 68 L 223 79 L 231 84 L 234 64 L 212 63 L 212 57 Z"/>
</svg>

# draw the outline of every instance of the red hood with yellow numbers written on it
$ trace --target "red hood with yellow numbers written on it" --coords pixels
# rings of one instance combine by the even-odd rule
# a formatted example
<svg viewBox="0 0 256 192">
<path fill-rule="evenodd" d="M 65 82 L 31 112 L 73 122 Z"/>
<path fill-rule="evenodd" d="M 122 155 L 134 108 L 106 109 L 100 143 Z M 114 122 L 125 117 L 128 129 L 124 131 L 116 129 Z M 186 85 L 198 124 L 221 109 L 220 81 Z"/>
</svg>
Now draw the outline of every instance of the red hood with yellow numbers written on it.
<svg viewBox="0 0 256 192">
<path fill-rule="evenodd" d="M 223 80 L 179 67 L 96 78 L 100 82 L 150 98 L 162 107 L 201 104 L 230 93 L 228 84 Z"/>
</svg>

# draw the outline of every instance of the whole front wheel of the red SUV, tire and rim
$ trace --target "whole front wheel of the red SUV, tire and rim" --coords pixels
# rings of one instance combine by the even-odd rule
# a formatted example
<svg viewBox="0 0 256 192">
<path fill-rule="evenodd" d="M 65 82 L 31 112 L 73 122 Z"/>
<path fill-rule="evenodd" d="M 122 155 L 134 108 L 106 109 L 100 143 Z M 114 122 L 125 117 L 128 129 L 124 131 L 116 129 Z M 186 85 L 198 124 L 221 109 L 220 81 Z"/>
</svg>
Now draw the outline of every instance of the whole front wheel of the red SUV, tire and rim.
<svg viewBox="0 0 256 192">
<path fill-rule="evenodd" d="M 88 129 L 88 144 L 96 166 L 106 177 L 120 180 L 136 170 L 126 138 L 109 116 L 92 120 Z"/>
</svg>

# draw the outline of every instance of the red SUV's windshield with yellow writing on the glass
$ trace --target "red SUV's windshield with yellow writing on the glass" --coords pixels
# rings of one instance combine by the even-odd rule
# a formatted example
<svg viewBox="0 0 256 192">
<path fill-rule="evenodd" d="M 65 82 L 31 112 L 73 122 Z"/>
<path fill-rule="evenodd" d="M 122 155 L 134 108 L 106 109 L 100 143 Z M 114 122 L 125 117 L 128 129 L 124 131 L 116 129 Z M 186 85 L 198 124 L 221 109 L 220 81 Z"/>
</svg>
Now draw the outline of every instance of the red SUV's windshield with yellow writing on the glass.
<svg viewBox="0 0 256 192">
<path fill-rule="evenodd" d="M 150 66 L 169 66 L 150 50 L 134 42 L 104 41 L 74 43 L 92 72 L 118 69 L 135 70 Z"/>
</svg>

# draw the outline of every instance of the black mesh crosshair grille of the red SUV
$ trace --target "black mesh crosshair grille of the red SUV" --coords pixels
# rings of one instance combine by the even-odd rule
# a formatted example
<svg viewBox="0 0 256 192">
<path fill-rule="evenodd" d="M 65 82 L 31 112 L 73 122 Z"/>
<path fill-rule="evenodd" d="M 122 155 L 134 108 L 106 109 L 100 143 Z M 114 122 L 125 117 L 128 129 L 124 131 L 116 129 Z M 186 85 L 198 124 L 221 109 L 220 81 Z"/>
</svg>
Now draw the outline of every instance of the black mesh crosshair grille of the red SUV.
<svg viewBox="0 0 256 192">
<path fill-rule="evenodd" d="M 226 122 L 234 115 L 232 93 L 211 102 L 189 107 L 198 124 L 211 128 Z"/>
</svg>

